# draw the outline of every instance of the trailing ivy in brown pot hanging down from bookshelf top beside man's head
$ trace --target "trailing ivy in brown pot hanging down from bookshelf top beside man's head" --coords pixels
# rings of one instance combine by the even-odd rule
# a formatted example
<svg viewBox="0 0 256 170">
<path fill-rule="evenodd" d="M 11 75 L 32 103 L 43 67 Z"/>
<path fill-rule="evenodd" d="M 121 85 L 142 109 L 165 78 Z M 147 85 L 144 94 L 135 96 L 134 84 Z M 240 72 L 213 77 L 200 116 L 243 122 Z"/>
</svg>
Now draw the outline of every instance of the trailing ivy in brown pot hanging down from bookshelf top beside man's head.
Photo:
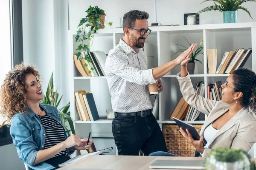
<svg viewBox="0 0 256 170">
<path fill-rule="evenodd" d="M 98 6 L 90 6 L 87 11 L 85 18 L 80 20 L 78 25 L 78 31 L 76 31 L 76 42 L 80 42 L 77 49 L 79 52 L 76 54 L 77 59 L 85 59 L 87 62 L 84 64 L 84 67 L 88 66 L 88 63 L 92 62 L 89 55 L 86 51 L 90 52 L 90 47 L 93 45 L 94 34 L 99 28 L 104 28 L 105 22 L 105 11 L 99 8 Z M 109 26 L 112 23 L 108 23 Z M 87 30 L 88 29 L 88 30 Z M 85 41 L 87 43 L 85 43 Z M 94 68 L 89 70 L 89 74 L 93 71 Z"/>
</svg>

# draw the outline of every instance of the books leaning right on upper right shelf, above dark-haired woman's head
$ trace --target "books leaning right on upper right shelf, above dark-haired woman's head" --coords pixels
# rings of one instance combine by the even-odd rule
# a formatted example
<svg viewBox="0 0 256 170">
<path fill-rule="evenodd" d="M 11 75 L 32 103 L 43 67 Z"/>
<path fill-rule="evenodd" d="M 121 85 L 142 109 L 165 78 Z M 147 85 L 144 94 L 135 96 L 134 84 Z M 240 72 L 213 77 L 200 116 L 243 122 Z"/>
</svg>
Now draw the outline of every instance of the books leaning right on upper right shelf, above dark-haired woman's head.
<svg viewBox="0 0 256 170">
<path fill-rule="evenodd" d="M 221 64 L 215 74 L 231 74 L 242 68 L 252 54 L 252 49 L 237 48 L 236 51 L 225 52 Z"/>
</svg>

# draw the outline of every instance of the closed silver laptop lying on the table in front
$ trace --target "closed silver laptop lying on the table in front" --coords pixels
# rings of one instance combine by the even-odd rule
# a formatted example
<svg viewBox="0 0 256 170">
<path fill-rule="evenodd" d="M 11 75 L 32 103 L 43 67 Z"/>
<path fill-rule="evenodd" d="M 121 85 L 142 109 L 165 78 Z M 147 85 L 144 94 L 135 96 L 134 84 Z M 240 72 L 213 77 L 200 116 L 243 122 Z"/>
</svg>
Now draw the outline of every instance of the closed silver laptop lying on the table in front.
<svg viewBox="0 0 256 170">
<path fill-rule="evenodd" d="M 151 169 L 199 169 L 203 170 L 204 160 L 155 160 Z"/>
</svg>

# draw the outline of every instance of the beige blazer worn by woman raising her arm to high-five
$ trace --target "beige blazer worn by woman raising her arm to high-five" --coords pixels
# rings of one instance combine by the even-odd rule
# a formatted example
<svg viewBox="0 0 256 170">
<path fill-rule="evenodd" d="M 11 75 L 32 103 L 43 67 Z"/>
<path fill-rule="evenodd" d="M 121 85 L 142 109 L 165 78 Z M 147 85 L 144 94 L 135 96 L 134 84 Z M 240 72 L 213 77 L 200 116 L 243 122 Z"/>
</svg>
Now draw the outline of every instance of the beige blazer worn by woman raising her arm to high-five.
<svg viewBox="0 0 256 170">
<path fill-rule="evenodd" d="M 204 136 L 205 128 L 226 113 L 229 110 L 229 105 L 222 101 L 213 101 L 197 95 L 189 74 L 186 77 L 180 77 L 180 73 L 178 73 L 177 79 L 180 84 L 180 91 L 186 102 L 198 111 L 208 115 L 200 132 L 200 136 Z M 255 142 L 256 119 L 254 113 L 249 111 L 248 107 L 244 107 L 221 127 L 208 148 L 204 149 L 202 156 L 208 156 L 210 151 L 218 146 L 223 148 L 231 147 L 233 149 L 241 148 L 248 153 Z M 198 151 L 196 151 L 195 155 L 198 156 Z"/>
</svg>

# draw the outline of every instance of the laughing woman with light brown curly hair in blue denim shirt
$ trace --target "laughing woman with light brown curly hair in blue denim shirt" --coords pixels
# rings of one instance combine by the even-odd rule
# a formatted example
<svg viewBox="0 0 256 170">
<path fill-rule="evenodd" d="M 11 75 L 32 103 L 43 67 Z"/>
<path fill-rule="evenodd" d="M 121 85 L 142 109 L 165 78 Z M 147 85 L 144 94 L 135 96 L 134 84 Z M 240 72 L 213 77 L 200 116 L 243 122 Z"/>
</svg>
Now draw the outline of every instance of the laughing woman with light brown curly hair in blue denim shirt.
<svg viewBox="0 0 256 170">
<path fill-rule="evenodd" d="M 41 105 L 40 75 L 33 66 L 16 65 L 6 75 L 0 98 L 3 115 L 20 159 L 34 170 L 56 169 L 74 150 L 89 149 L 87 139 L 67 138 L 57 108 Z"/>
</svg>

